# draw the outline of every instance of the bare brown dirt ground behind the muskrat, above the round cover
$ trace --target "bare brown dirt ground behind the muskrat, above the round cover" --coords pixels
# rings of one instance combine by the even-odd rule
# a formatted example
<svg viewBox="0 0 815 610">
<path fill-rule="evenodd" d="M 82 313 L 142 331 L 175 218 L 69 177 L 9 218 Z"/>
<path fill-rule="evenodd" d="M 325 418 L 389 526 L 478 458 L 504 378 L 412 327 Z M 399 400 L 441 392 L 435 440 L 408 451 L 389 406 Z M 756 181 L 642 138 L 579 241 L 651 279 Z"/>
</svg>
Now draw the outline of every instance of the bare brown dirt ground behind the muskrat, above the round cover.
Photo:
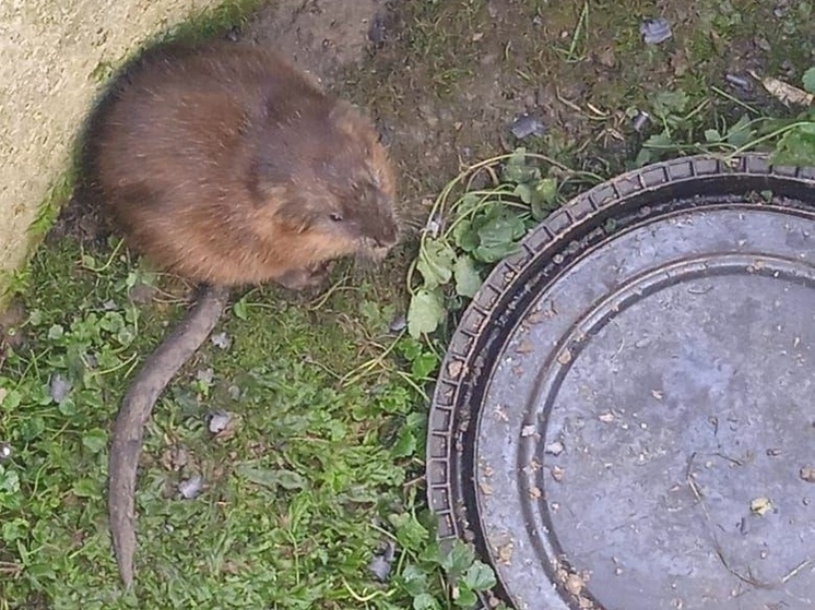
<svg viewBox="0 0 815 610">
<path fill-rule="evenodd" d="M 800 76 L 811 50 L 794 34 L 815 34 L 806 14 L 787 0 L 281 0 L 235 37 L 282 50 L 366 107 L 400 167 L 409 215 L 421 216 L 420 202 L 461 165 L 519 144 L 621 170 L 641 136 L 631 113 L 649 94 L 704 94 L 749 70 Z M 646 45 L 640 24 L 659 16 L 673 37 Z M 730 92 L 760 98 L 749 82 Z M 524 113 L 542 136 L 511 134 Z"/>
</svg>

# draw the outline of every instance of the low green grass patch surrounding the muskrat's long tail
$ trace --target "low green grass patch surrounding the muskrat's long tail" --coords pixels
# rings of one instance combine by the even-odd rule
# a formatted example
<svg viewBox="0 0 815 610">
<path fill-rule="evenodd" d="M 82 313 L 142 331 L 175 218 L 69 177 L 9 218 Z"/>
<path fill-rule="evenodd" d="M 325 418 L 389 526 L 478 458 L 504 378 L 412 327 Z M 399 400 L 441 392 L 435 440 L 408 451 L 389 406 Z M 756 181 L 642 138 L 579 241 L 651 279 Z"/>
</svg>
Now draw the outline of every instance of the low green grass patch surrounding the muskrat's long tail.
<svg viewBox="0 0 815 610">
<path fill-rule="evenodd" d="M 138 358 L 181 308 L 133 304 L 149 274 L 113 252 L 66 239 L 28 268 L 36 290 L 20 298 L 26 316 L 0 376 L 0 439 L 12 452 L 0 463 L 0 608 L 404 600 L 367 566 L 399 535 L 393 524 L 421 528 L 417 551 L 432 545 L 413 516 L 425 398 L 395 364 L 341 379 L 393 342 L 408 370 L 417 363 L 413 379 L 437 359 L 389 334 L 392 313 L 365 284 L 317 311 L 261 290 L 237 301 L 220 327 L 228 348 L 211 343 L 190 363 L 147 430 L 138 598 L 121 595 L 105 517 L 108 426 Z M 231 417 L 218 435 L 213 410 Z M 184 500 L 179 483 L 197 475 L 203 492 Z"/>
</svg>

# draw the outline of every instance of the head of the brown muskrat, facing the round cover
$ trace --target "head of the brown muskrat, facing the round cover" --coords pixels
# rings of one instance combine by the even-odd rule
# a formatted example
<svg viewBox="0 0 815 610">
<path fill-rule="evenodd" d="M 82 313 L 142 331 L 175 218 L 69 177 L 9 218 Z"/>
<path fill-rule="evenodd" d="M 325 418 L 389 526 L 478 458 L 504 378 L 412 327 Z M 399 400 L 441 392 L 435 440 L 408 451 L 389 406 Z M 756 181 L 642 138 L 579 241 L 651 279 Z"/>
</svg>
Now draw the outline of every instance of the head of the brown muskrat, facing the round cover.
<svg viewBox="0 0 815 610">
<path fill-rule="evenodd" d="M 344 103 L 321 117 L 304 110 L 285 127 L 258 168 L 274 220 L 323 252 L 383 258 L 399 225 L 393 170 L 374 129 Z"/>
</svg>

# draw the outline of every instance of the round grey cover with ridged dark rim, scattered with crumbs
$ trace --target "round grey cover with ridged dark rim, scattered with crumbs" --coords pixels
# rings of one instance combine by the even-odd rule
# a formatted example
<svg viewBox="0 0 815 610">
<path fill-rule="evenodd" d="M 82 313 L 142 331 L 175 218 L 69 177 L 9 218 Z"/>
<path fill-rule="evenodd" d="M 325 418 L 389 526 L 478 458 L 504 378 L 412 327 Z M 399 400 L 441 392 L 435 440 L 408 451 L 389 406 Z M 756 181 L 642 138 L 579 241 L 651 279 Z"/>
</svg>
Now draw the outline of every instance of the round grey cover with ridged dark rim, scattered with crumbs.
<svg viewBox="0 0 815 610">
<path fill-rule="evenodd" d="M 499 264 L 442 363 L 442 538 L 519 609 L 815 608 L 815 170 L 621 176 Z"/>
</svg>

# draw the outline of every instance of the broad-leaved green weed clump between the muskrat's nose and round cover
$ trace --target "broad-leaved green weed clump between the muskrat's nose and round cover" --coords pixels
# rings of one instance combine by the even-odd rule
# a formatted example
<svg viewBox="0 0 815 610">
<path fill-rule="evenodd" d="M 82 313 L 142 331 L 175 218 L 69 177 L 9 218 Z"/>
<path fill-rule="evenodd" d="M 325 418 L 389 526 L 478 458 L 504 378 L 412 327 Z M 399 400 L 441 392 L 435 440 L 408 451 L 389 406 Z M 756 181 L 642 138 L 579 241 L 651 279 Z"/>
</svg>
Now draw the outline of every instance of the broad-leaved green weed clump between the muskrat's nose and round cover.
<svg viewBox="0 0 815 610">
<path fill-rule="evenodd" d="M 544 175 L 539 163 L 545 163 Z M 476 187 L 486 176 L 487 184 Z M 518 148 L 464 169 L 436 199 L 410 267 L 408 330 L 434 333 L 479 290 L 488 268 L 511 254 L 528 230 L 562 205 L 576 187 L 602 181 Z"/>
</svg>

